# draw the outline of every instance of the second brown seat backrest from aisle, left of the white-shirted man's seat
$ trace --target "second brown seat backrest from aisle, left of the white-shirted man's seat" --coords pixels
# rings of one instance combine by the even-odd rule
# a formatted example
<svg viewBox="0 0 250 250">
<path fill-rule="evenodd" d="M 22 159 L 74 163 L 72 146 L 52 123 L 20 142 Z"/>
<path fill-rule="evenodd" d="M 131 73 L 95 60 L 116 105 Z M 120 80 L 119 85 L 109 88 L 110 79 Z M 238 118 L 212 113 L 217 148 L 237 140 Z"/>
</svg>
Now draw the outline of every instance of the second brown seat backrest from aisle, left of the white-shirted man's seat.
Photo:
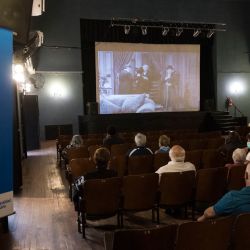
<svg viewBox="0 0 250 250">
<path fill-rule="evenodd" d="M 143 211 L 154 207 L 158 191 L 158 174 L 123 177 L 123 209 Z"/>
</svg>

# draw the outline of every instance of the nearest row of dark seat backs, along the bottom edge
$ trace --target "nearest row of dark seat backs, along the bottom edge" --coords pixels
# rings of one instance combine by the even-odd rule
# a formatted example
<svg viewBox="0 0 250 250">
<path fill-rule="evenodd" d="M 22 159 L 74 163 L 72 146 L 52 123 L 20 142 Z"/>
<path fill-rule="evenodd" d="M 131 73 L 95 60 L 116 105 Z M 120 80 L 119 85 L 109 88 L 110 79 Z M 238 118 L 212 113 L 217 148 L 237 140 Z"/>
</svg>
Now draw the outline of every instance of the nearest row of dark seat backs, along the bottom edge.
<svg viewBox="0 0 250 250">
<path fill-rule="evenodd" d="M 250 214 L 105 233 L 106 250 L 249 250 Z"/>
</svg>

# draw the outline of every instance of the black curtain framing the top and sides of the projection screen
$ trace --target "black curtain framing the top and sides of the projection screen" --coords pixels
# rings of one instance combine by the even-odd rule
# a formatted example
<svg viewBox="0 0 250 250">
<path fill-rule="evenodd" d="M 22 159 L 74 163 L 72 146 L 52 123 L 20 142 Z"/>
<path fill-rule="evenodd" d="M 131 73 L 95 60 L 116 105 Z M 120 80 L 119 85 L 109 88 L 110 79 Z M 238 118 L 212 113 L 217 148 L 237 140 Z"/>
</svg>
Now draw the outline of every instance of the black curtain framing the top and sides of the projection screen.
<svg viewBox="0 0 250 250">
<path fill-rule="evenodd" d="M 203 33 L 193 37 L 193 30 L 184 30 L 176 37 L 175 30 L 162 36 L 161 29 L 149 28 L 147 35 L 141 34 L 140 27 L 130 29 L 125 35 L 123 27 L 112 27 L 110 20 L 81 19 L 81 47 L 83 68 L 83 100 L 84 110 L 88 102 L 96 101 L 95 42 L 123 42 L 148 44 L 200 44 L 200 108 L 207 109 L 206 103 L 215 105 L 215 60 L 214 39 Z M 86 113 L 86 112 L 85 112 Z"/>
</svg>

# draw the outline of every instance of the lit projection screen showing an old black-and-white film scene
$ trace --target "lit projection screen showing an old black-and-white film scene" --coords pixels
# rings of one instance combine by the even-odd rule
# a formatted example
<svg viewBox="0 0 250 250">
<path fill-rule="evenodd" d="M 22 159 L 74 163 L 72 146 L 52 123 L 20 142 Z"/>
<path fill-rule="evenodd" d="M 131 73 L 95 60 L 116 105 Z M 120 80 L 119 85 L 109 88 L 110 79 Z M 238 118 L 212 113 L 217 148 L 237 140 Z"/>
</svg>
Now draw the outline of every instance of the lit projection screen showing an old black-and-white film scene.
<svg viewBox="0 0 250 250">
<path fill-rule="evenodd" d="M 200 45 L 97 42 L 100 114 L 200 110 Z"/>
</svg>

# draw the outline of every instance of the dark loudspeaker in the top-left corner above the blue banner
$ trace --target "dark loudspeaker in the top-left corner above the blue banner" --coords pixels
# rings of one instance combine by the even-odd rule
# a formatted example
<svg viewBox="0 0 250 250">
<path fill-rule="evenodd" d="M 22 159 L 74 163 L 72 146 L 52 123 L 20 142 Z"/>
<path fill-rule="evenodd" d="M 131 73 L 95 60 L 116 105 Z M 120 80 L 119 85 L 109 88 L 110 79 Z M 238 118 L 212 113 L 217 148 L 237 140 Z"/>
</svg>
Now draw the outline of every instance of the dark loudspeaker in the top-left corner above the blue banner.
<svg viewBox="0 0 250 250">
<path fill-rule="evenodd" d="M 25 44 L 28 41 L 33 0 L 1 0 L 0 27 L 10 29 L 17 35 L 14 41 Z"/>
</svg>

